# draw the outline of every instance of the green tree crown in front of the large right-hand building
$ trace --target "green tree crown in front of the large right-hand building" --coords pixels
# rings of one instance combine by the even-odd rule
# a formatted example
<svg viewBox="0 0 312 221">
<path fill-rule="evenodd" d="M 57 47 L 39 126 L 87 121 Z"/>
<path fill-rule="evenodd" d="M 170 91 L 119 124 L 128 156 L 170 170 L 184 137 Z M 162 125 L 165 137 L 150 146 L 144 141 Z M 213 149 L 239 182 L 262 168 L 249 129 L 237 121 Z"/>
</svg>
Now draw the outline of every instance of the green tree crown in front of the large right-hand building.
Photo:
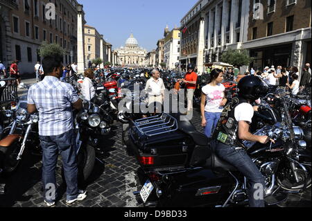
<svg viewBox="0 0 312 221">
<path fill-rule="evenodd" d="M 221 55 L 220 60 L 221 62 L 241 67 L 243 65 L 249 65 L 254 60 L 254 58 L 250 57 L 247 50 L 228 49 Z"/>
</svg>

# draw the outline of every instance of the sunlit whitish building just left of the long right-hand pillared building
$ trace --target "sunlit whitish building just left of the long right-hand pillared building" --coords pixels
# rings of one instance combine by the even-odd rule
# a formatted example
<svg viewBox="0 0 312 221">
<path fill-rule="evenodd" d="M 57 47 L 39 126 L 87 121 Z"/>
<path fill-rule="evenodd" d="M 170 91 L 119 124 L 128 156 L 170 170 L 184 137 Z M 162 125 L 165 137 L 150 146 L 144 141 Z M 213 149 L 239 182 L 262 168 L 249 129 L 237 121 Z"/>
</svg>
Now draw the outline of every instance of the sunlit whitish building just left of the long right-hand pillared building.
<svg viewBox="0 0 312 221">
<path fill-rule="evenodd" d="M 173 28 L 164 38 L 164 63 L 167 69 L 175 69 L 180 58 L 180 29 Z"/>
</svg>

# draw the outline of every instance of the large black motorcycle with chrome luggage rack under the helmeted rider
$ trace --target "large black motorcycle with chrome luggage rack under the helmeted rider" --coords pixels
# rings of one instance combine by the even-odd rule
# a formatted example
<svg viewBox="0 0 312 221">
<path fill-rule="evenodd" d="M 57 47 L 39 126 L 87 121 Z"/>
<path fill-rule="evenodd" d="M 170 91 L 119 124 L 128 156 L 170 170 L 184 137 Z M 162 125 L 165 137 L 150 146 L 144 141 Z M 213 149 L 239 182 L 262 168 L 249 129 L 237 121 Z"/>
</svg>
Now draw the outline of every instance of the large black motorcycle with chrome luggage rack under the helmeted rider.
<svg viewBox="0 0 312 221">
<path fill-rule="evenodd" d="M 311 186 L 311 156 L 296 139 L 286 103 L 281 97 L 281 122 L 263 125 L 254 134 L 274 143 L 245 141 L 245 150 L 266 180 L 267 205 L 286 200 Z M 232 103 L 237 100 L 234 98 Z M 229 104 L 231 105 L 231 103 Z M 248 204 L 246 178 L 214 153 L 215 141 L 178 114 L 157 114 L 130 121 L 128 148 L 137 157 L 143 188 L 136 192 L 144 206 L 237 206 Z M 125 134 L 127 136 L 127 134 Z M 145 182 L 145 183 L 144 183 Z"/>
</svg>

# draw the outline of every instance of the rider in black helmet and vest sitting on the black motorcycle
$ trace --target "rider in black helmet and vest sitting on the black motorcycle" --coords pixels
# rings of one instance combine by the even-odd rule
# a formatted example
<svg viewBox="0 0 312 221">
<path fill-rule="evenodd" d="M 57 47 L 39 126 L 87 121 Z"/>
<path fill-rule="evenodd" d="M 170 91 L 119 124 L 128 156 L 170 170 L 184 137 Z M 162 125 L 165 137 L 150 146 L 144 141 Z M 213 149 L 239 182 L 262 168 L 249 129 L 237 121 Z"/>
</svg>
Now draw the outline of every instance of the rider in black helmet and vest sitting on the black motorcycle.
<svg viewBox="0 0 312 221">
<path fill-rule="evenodd" d="M 256 76 L 246 76 L 239 81 L 239 96 L 223 109 L 213 134 L 215 152 L 221 159 L 236 167 L 247 178 L 247 193 L 250 207 L 264 207 L 265 181 L 259 168 L 245 151 L 243 141 L 266 144 L 274 143 L 268 136 L 257 136 L 249 132 L 254 115 L 250 105 L 266 95 L 268 86 Z M 263 194 L 259 194 L 259 193 Z M 257 195 L 257 197 L 254 197 Z M 261 197 L 263 196 L 263 197 Z"/>
</svg>

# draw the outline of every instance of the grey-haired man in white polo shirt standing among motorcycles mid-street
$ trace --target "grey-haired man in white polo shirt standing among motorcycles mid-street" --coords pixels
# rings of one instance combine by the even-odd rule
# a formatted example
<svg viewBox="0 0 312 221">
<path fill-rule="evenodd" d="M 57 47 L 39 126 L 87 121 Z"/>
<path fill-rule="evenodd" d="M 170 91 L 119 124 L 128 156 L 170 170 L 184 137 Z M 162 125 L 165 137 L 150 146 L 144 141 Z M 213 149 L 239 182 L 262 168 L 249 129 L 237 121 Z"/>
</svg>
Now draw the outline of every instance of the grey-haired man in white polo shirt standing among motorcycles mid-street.
<svg viewBox="0 0 312 221">
<path fill-rule="evenodd" d="M 151 103 L 163 103 L 164 101 L 164 81 L 160 77 L 159 71 L 154 69 L 153 76 L 146 82 L 145 90 L 148 93 L 148 105 Z"/>
</svg>

